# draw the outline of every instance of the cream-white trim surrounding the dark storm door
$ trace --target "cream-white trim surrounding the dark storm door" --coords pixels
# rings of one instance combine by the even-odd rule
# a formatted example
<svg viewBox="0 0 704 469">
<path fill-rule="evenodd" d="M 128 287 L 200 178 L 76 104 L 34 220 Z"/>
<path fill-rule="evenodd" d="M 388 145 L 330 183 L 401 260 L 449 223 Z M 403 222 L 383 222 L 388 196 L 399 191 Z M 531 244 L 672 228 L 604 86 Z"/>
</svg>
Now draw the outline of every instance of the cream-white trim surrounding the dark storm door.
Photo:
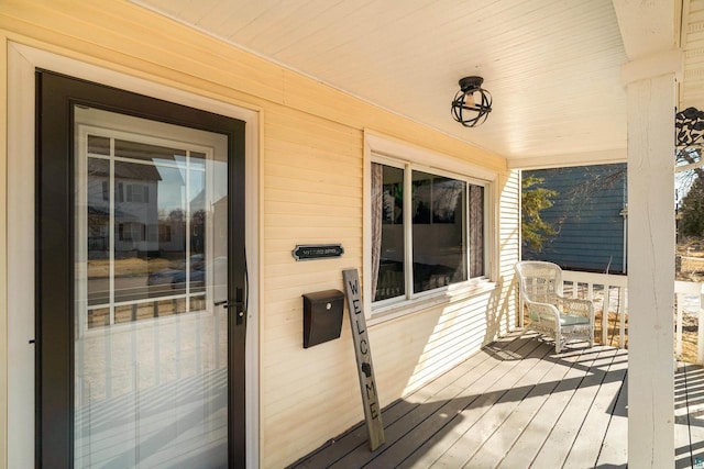
<svg viewBox="0 0 704 469">
<path fill-rule="evenodd" d="M 261 110 L 217 101 L 156 81 L 9 42 L 8 51 L 8 467 L 34 466 L 34 161 L 35 70 L 42 68 L 189 105 L 246 122 L 245 245 L 249 310 L 246 331 L 248 467 L 260 461 L 260 114 Z"/>
</svg>

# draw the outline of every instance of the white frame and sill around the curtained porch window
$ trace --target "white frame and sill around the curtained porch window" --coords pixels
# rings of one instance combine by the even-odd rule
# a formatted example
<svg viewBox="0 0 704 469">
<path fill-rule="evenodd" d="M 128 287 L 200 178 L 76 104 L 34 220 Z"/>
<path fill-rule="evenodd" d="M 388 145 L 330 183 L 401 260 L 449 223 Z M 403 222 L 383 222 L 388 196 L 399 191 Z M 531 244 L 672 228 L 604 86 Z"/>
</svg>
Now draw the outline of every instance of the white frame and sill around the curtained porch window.
<svg viewBox="0 0 704 469">
<path fill-rule="evenodd" d="M 447 304 L 460 298 L 468 298 L 474 294 L 486 292 L 494 288 L 492 279 L 495 277 L 495 233 L 496 206 L 498 197 L 496 196 L 496 171 L 479 167 L 468 161 L 453 158 L 448 155 L 421 148 L 405 142 L 400 142 L 370 131 L 364 133 L 364 259 L 363 278 L 372 277 L 372 164 L 378 163 L 386 166 L 404 169 L 404 193 L 410 193 L 411 183 L 408 169 L 411 171 L 424 171 L 438 176 L 446 176 L 463 182 L 484 187 L 484 276 L 479 278 L 468 278 L 468 280 L 440 287 L 419 293 L 413 292 L 413 283 L 409 286 L 409 277 L 406 276 L 406 294 L 398 298 L 373 302 L 374 292 L 372 282 L 364 281 L 364 303 L 365 312 L 370 325 L 388 321 L 402 315 L 415 313 L 436 305 Z M 405 208 L 410 201 L 404 200 Z M 405 225 L 405 264 L 413 263 L 411 231 L 413 224 L 407 223 L 407 210 L 404 210 Z M 469 243 L 469 238 L 468 238 Z M 468 245 L 469 250 L 469 245 Z M 469 256 L 468 256 L 469 260 Z M 469 263 L 468 263 L 469 276 Z"/>
</svg>

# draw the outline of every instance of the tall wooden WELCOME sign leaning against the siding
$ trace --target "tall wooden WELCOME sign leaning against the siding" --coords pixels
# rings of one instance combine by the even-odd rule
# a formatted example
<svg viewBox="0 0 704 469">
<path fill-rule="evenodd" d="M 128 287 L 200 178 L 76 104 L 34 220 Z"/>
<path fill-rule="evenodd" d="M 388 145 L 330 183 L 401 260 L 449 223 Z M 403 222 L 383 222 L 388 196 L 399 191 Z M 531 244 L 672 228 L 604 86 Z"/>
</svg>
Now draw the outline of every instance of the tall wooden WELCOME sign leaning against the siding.
<svg viewBox="0 0 704 469">
<path fill-rule="evenodd" d="M 356 355 L 356 371 L 360 377 L 364 418 L 370 434 L 370 449 L 373 451 L 384 444 L 384 424 L 382 423 L 382 409 L 374 381 L 374 367 L 372 366 L 370 339 L 366 334 L 366 320 L 362 308 L 360 276 L 356 269 L 346 269 L 342 271 L 342 278 L 348 295 L 348 310 L 350 311 L 350 325 L 352 326 L 352 342 L 354 342 L 354 353 Z"/>
</svg>

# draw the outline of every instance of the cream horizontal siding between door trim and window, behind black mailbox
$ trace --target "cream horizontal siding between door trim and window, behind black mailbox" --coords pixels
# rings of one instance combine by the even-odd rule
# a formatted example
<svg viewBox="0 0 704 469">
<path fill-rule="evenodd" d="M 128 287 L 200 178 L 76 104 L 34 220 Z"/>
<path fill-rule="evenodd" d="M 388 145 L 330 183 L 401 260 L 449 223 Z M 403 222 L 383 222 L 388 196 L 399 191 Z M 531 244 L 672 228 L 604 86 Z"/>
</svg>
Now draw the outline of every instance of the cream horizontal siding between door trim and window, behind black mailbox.
<svg viewBox="0 0 704 469">
<path fill-rule="evenodd" d="M 361 264 L 362 134 L 277 108 L 266 113 L 264 147 L 263 453 L 283 466 L 360 418 L 349 322 L 342 339 L 304 349 L 301 295 L 342 290 L 341 270 Z M 292 256 L 297 244 L 328 243 L 344 255 Z"/>
</svg>

